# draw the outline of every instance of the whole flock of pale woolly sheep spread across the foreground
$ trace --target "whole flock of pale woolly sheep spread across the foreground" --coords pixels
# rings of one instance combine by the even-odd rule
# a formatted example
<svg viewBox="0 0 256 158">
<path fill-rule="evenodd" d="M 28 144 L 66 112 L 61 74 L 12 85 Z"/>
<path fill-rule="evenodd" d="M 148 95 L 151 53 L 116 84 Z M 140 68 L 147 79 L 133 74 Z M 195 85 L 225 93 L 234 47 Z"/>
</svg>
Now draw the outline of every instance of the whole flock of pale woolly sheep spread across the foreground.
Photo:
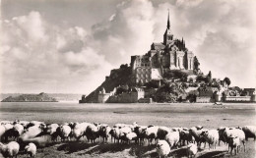
<svg viewBox="0 0 256 158">
<path fill-rule="evenodd" d="M 219 127 L 205 129 L 169 128 L 156 125 L 142 126 L 115 124 L 110 127 L 99 123 L 45 124 L 39 121 L 1 121 L 0 151 L 4 157 L 28 154 L 35 157 L 40 138 L 50 137 L 51 142 L 83 141 L 84 143 L 125 143 L 155 145 L 159 156 L 168 156 L 171 149 L 185 147 L 188 157 L 195 157 L 199 149 L 216 149 L 221 142 L 227 146 L 231 155 L 246 152 L 248 138 L 256 138 L 256 126 L 242 128 Z"/>
</svg>

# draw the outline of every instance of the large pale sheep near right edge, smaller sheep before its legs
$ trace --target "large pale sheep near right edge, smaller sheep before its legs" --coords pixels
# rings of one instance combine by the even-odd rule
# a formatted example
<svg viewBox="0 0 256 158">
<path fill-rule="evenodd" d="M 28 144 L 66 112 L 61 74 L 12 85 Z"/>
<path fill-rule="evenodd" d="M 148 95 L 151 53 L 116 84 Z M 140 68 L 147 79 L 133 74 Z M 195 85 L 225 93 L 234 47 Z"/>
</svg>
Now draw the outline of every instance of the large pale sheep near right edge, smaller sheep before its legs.
<svg viewBox="0 0 256 158">
<path fill-rule="evenodd" d="M 230 136 L 237 136 L 239 140 L 243 143 L 243 148 L 245 152 L 245 133 L 239 129 L 229 130 L 228 128 L 224 128 L 224 140 L 228 142 L 228 150 L 229 151 L 229 138 Z"/>
</svg>

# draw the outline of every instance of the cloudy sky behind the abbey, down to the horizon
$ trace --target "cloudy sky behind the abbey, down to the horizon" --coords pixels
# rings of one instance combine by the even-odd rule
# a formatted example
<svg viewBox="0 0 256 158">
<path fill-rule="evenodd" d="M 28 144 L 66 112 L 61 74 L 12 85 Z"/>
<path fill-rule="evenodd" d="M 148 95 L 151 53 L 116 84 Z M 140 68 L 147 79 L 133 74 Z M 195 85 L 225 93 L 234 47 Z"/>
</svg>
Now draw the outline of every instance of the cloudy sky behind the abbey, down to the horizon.
<svg viewBox="0 0 256 158">
<path fill-rule="evenodd" d="M 256 87 L 255 0 L 1 0 L 0 92 L 89 94 L 174 38 L 213 78 Z"/>
</svg>

